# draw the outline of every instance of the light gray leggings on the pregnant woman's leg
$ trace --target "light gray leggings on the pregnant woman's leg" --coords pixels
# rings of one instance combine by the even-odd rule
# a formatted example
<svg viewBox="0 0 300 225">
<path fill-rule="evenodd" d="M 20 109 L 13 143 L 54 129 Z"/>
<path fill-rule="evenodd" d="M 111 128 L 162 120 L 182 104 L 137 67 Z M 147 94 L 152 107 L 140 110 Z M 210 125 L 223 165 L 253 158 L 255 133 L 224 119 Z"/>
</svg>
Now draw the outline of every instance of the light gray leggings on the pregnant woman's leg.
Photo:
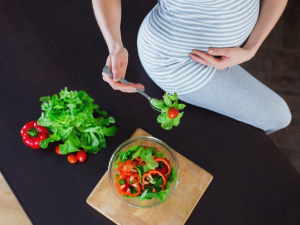
<svg viewBox="0 0 300 225">
<path fill-rule="evenodd" d="M 200 89 L 179 99 L 250 124 L 271 134 L 288 126 L 286 102 L 240 66 L 218 70 Z"/>
</svg>

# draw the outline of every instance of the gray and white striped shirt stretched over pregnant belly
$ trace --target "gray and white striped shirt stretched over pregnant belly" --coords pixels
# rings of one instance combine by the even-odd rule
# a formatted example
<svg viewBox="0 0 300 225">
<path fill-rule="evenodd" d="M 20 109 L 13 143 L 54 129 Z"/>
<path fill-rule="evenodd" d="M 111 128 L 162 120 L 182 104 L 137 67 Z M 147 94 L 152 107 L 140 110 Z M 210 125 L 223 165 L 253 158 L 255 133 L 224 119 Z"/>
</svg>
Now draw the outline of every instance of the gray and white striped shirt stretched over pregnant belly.
<svg viewBox="0 0 300 225">
<path fill-rule="evenodd" d="M 139 30 L 142 65 L 165 91 L 193 92 L 216 69 L 191 61 L 188 54 L 193 49 L 241 46 L 258 14 L 259 0 L 158 0 Z"/>
</svg>

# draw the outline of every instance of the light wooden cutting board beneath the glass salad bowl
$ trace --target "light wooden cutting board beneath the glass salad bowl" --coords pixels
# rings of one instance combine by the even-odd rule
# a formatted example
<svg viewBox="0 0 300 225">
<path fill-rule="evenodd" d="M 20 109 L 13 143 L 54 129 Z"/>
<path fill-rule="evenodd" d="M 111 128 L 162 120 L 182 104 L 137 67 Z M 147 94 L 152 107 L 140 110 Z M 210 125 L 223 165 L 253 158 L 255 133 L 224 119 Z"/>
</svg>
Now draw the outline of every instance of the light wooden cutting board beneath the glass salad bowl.
<svg viewBox="0 0 300 225">
<path fill-rule="evenodd" d="M 151 136 L 138 128 L 133 137 Z M 87 203 L 104 216 L 122 225 L 181 225 L 188 219 L 213 176 L 178 152 L 179 184 L 172 196 L 161 205 L 137 209 L 126 205 L 114 193 L 108 172 L 94 188 Z"/>
</svg>

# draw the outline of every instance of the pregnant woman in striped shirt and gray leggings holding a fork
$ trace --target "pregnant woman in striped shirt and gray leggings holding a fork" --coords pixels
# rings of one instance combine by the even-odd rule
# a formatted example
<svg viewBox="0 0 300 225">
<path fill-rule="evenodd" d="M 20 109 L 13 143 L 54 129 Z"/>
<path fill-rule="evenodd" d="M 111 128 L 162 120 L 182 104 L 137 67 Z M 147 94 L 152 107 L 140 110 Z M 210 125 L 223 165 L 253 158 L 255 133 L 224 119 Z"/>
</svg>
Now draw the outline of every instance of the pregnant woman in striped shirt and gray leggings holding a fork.
<svg viewBox="0 0 300 225">
<path fill-rule="evenodd" d="M 238 64 L 250 60 L 281 16 L 287 0 L 158 0 L 138 35 L 140 60 L 163 90 L 187 103 L 260 128 L 270 134 L 291 121 L 286 102 Z M 114 90 L 135 92 L 142 84 L 122 84 L 128 52 L 122 44 L 121 0 L 93 0 L 106 40 L 103 74 Z"/>
</svg>

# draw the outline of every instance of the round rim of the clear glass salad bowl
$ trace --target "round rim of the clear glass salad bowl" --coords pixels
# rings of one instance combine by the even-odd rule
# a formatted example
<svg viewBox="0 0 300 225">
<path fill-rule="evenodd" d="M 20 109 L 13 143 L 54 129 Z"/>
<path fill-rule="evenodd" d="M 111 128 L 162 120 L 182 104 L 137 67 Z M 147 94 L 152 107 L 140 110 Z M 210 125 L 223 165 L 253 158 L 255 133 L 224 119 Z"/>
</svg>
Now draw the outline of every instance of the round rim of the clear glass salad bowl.
<svg viewBox="0 0 300 225">
<path fill-rule="evenodd" d="M 115 187 L 115 182 L 113 181 L 113 179 L 111 178 L 111 173 L 112 173 L 112 163 L 114 162 L 114 160 L 117 158 L 117 155 L 119 152 L 121 152 L 121 150 L 128 144 L 137 141 L 139 139 L 148 139 L 148 141 L 152 141 L 152 142 L 157 142 L 160 145 L 162 145 L 167 151 L 170 152 L 171 156 L 173 157 L 174 161 L 175 161 L 175 165 L 177 167 L 177 179 L 175 181 L 174 187 L 173 189 L 168 193 L 168 196 L 162 201 L 162 202 L 157 202 L 155 204 L 152 205 L 146 205 L 146 206 L 137 206 L 137 205 L 133 205 L 130 204 L 129 202 L 125 201 L 125 199 L 123 199 L 120 194 L 117 192 L 116 187 Z M 143 208 L 152 208 L 154 206 L 160 205 L 162 203 L 164 203 L 166 200 L 169 199 L 169 197 L 173 194 L 173 192 L 176 190 L 178 184 L 179 184 L 179 177 L 180 177 L 180 167 L 179 167 L 179 162 L 178 159 L 174 153 L 174 150 L 172 148 L 170 148 L 169 145 L 167 145 L 165 142 L 163 142 L 162 140 L 155 138 L 155 137 L 151 137 L 151 136 L 138 136 L 138 137 L 134 137 L 134 138 L 130 138 L 128 140 L 126 140 L 125 142 L 123 142 L 121 145 L 119 145 L 119 147 L 114 151 L 114 153 L 112 154 L 110 160 L 109 160 L 109 164 L 108 164 L 108 175 L 109 175 L 109 179 L 110 179 L 110 184 L 112 189 L 114 190 L 115 194 L 118 196 L 119 199 L 121 199 L 124 203 L 126 203 L 129 206 L 132 206 L 134 208 L 139 208 L 139 209 L 143 209 Z"/>
</svg>

